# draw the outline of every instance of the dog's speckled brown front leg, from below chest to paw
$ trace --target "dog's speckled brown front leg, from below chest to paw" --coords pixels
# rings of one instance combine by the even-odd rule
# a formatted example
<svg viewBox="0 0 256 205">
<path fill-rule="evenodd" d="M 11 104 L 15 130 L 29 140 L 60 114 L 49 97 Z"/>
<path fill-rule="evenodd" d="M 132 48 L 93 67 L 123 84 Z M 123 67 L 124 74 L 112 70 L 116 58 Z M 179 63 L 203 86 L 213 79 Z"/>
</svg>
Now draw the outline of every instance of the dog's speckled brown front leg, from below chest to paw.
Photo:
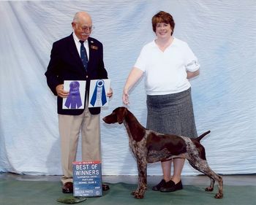
<svg viewBox="0 0 256 205">
<path fill-rule="evenodd" d="M 137 159 L 138 160 L 138 159 Z M 146 160 L 138 160 L 138 188 L 132 192 L 135 198 L 144 198 L 147 188 L 147 163 Z"/>
</svg>

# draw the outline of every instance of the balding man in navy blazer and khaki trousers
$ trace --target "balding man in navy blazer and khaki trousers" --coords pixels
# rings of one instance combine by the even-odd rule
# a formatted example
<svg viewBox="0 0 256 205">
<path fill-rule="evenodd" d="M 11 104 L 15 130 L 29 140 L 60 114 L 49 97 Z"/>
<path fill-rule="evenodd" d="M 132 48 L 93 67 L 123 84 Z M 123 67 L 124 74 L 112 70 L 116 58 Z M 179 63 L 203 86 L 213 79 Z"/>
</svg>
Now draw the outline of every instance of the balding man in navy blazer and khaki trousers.
<svg viewBox="0 0 256 205">
<path fill-rule="evenodd" d="M 78 136 L 81 133 L 82 160 L 101 160 L 100 107 L 89 108 L 90 80 L 107 79 L 103 62 L 102 43 L 91 38 L 92 20 L 87 12 L 77 12 L 72 20 L 70 36 L 53 43 L 50 62 L 45 72 L 50 90 L 57 96 L 59 133 L 61 136 L 61 166 L 64 176 L 62 192 L 72 193 L 72 162 L 75 161 Z M 84 109 L 62 109 L 64 80 L 86 80 L 86 105 Z M 113 95 L 112 89 L 107 93 Z M 102 185 L 108 190 L 108 185 Z"/>
</svg>

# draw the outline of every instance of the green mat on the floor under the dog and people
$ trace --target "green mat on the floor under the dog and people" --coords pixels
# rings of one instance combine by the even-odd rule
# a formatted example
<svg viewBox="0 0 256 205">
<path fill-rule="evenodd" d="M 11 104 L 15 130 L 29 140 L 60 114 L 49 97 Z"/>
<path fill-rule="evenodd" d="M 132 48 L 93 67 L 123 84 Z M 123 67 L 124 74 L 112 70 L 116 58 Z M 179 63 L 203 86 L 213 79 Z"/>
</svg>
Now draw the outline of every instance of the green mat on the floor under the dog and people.
<svg viewBox="0 0 256 205">
<path fill-rule="evenodd" d="M 183 190 L 174 193 L 161 193 L 151 190 L 148 185 L 145 198 L 136 199 L 130 195 L 137 185 L 125 183 L 108 184 L 110 190 L 103 192 L 103 196 L 87 198 L 79 204 L 93 205 L 255 205 L 256 186 L 224 186 L 224 198 L 214 198 L 217 186 L 213 192 L 206 192 L 203 186 L 184 185 Z M 60 182 L 18 181 L 0 179 L 1 205 L 54 205 L 58 198 L 65 198 L 72 194 L 61 193 Z"/>
</svg>

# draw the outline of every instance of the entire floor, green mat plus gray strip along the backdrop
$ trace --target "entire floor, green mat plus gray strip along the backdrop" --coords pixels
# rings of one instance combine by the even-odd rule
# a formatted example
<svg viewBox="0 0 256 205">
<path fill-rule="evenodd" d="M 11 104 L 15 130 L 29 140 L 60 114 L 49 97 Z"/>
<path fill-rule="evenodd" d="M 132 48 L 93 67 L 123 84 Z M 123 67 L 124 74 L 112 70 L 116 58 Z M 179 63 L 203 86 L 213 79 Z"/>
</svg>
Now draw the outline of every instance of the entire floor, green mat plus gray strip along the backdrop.
<svg viewBox="0 0 256 205">
<path fill-rule="evenodd" d="M 152 191 L 161 177 L 148 177 L 148 190 L 145 198 L 133 198 L 130 193 L 137 188 L 137 176 L 102 176 L 103 182 L 110 185 L 110 190 L 102 197 L 87 198 L 79 204 L 126 205 L 126 204 L 209 204 L 209 205 L 251 205 L 256 204 L 256 174 L 222 175 L 224 198 L 214 198 L 213 192 L 204 190 L 210 184 L 206 176 L 182 177 L 183 190 L 174 193 Z M 0 205 L 40 205 L 61 204 L 60 197 L 72 196 L 61 193 L 60 176 L 29 176 L 10 173 L 0 174 Z"/>
</svg>

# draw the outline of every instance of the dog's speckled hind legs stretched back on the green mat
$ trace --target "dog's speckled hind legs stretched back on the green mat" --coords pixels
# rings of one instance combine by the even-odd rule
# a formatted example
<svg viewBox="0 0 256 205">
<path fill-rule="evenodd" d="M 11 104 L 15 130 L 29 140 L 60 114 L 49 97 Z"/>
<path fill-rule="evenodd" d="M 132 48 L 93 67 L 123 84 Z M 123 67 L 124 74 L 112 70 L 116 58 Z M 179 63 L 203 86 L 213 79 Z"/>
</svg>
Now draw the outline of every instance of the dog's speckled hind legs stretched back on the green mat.
<svg viewBox="0 0 256 205">
<path fill-rule="evenodd" d="M 209 187 L 206 187 L 206 191 L 213 191 L 214 190 L 214 182 L 217 181 L 219 183 L 219 192 L 214 196 L 215 198 L 222 198 L 223 197 L 223 179 L 218 174 L 216 174 L 214 171 L 211 170 L 211 168 L 208 166 L 208 163 L 206 160 L 202 160 L 200 158 L 197 158 L 197 160 L 190 160 L 189 163 L 192 167 L 197 169 L 198 171 L 202 172 L 203 174 L 206 174 L 211 179 L 211 184 Z"/>
</svg>

